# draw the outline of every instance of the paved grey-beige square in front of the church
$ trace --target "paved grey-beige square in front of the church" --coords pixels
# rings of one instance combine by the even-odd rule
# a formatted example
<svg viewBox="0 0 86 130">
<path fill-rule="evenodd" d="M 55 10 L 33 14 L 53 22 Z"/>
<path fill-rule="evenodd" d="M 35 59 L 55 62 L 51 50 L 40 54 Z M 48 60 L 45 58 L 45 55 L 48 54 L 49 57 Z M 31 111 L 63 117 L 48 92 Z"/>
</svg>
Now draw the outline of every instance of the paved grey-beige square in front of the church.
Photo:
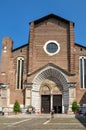
<svg viewBox="0 0 86 130">
<path fill-rule="evenodd" d="M 70 115 L 0 116 L 0 130 L 86 130 L 86 117 Z"/>
</svg>

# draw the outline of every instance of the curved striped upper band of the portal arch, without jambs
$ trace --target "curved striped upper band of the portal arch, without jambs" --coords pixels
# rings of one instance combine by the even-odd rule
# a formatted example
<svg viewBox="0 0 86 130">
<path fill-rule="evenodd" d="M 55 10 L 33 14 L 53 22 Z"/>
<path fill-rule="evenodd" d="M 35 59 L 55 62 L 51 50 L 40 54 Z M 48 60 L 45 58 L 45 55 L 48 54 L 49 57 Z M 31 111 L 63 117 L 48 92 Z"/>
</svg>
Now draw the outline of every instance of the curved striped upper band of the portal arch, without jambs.
<svg viewBox="0 0 86 130">
<path fill-rule="evenodd" d="M 52 66 L 48 66 L 41 70 L 33 79 L 33 89 L 37 86 L 38 91 L 40 85 L 45 79 L 54 81 L 57 85 L 63 88 L 63 91 L 68 90 L 67 78 L 63 72 Z"/>
</svg>

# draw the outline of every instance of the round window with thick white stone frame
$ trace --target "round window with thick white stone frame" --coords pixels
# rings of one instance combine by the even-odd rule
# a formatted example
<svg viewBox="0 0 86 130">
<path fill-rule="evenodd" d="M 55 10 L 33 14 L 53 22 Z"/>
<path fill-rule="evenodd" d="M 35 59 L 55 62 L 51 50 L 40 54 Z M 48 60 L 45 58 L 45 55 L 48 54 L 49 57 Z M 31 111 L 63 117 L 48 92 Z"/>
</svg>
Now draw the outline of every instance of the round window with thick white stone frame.
<svg viewBox="0 0 86 130">
<path fill-rule="evenodd" d="M 57 43 L 54 40 L 50 40 L 46 42 L 44 45 L 44 51 L 51 56 L 57 54 L 59 50 L 60 50 L 59 43 Z"/>
</svg>

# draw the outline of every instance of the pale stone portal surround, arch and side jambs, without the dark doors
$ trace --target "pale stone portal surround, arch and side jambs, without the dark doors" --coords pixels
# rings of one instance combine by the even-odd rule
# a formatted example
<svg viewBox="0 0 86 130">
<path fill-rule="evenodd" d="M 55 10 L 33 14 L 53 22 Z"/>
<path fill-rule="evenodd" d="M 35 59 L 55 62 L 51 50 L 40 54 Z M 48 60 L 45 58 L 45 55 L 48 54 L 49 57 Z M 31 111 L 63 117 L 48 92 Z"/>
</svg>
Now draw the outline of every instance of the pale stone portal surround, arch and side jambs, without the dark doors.
<svg viewBox="0 0 86 130">
<path fill-rule="evenodd" d="M 45 84 L 44 88 L 41 88 L 43 82 L 45 80 L 50 80 L 51 82 L 53 81 L 56 83 L 58 87 L 61 88 L 62 90 L 62 110 L 64 111 L 65 106 L 69 106 L 69 86 L 68 86 L 68 81 L 66 78 L 66 75 L 59 69 L 53 67 L 53 66 L 48 66 L 44 69 L 42 69 L 33 79 L 33 85 L 32 85 L 32 105 L 36 109 L 40 109 L 41 111 L 41 94 L 45 95 L 45 90 L 47 90 L 47 94 L 50 94 L 51 99 L 52 99 L 52 93 L 51 89 L 49 90 L 49 87 Z M 40 91 L 41 90 L 41 91 Z M 56 90 L 56 89 L 55 89 Z M 59 89 L 60 90 L 60 89 Z M 56 90 L 58 91 L 58 90 Z M 40 92 L 42 92 L 40 94 Z M 58 93 L 57 93 L 58 95 Z M 52 103 L 51 103 L 52 104 Z"/>
</svg>

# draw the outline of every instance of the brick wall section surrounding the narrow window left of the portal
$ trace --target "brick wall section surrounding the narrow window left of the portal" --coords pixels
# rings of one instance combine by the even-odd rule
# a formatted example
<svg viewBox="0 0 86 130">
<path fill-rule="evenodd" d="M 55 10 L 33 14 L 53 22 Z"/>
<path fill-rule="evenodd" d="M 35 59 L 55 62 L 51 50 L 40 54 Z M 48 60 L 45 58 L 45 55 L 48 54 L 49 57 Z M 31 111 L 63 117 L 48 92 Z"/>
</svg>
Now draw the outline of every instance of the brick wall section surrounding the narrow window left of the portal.
<svg viewBox="0 0 86 130">
<path fill-rule="evenodd" d="M 10 85 L 10 103 L 13 104 L 15 100 L 18 100 L 20 104 L 24 104 L 24 92 L 23 90 L 17 90 L 16 89 L 16 75 L 17 75 L 17 58 L 18 57 L 24 57 L 24 75 L 23 75 L 23 88 L 24 88 L 24 82 L 26 80 L 26 73 L 27 73 L 27 51 L 28 46 L 21 47 L 20 49 L 17 49 L 13 51 L 12 61 L 13 61 L 13 77 L 11 79 L 11 85 Z M 13 82 L 12 82 L 13 81 Z"/>
</svg>

